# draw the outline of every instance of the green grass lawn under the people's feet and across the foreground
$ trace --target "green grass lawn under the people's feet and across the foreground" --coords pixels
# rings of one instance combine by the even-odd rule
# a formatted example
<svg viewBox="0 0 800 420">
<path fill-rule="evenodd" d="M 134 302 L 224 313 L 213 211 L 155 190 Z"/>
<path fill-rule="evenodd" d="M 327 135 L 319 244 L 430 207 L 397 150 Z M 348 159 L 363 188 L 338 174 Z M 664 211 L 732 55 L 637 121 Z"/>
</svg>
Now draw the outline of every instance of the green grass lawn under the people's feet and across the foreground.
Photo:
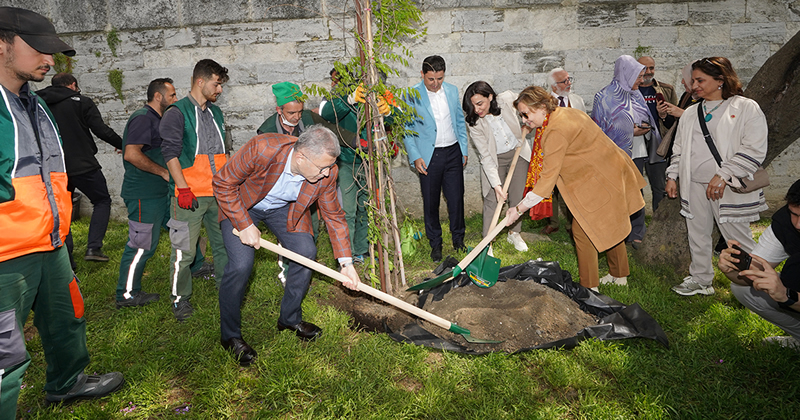
<svg viewBox="0 0 800 420">
<path fill-rule="evenodd" d="M 467 245 L 480 241 L 480 216 L 467 224 Z M 563 220 L 562 220 L 563 224 Z M 421 226 L 421 222 L 419 222 Z M 763 223 L 761 226 L 763 227 Z M 538 231 L 541 222 L 526 222 Z M 562 225 L 563 226 L 563 225 Z M 278 333 L 282 289 L 276 257 L 259 251 L 243 306 L 244 338 L 258 361 L 241 368 L 219 344 L 219 309 L 213 279 L 195 279 L 194 316 L 175 321 L 169 306 L 169 240 L 162 235 L 148 262 L 145 291 L 161 300 L 116 310 L 119 260 L 127 225 L 112 222 L 103 250 L 107 264 L 81 258 L 86 218 L 73 225 L 78 278 L 86 302 L 87 373 L 118 370 L 126 384 L 100 401 L 44 404 L 42 345 L 30 324 L 33 358 L 19 399 L 25 419 L 794 419 L 800 412 L 800 354 L 762 339 L 782 334 L 744 309 L 717 273 L 711 297 L 681 297 L 669 267 L 631 258 L 628 287 L 600 286 L 623 303 L 638 302 L 667 332 L 670 348 L 655 341 L 584 341 L 573 350 L 465 356 L 398 344 L 383 334 L 355 332 L 349 317 L 316 298 L 333 281 L 315 275 L 304 318 L 323 336 L 302 343 Z M 446 230 L 446 229 L 445 229 Z M 758 230 L 755 226 L 754 230 Z M 577 261 L 562 229 L 552 242 L 517 253 L 501 234 L 495 256 L 503 265 L 557 260 L 577 276 Z M 447 248 L 445 255 L 452 252 Z M 333 265 L 327 237 L 320 261 Z M 428 246 L 406 260 L 410 277 L 434 268 Z M 210 254 L 210 253 L 209 253 Z M 209 257 L 210 258 L 210 257 Z M 607 266 L 601 259 L 601 275 Z M 363 278 L 363 277 L 362 277 Z"/>
</svg>

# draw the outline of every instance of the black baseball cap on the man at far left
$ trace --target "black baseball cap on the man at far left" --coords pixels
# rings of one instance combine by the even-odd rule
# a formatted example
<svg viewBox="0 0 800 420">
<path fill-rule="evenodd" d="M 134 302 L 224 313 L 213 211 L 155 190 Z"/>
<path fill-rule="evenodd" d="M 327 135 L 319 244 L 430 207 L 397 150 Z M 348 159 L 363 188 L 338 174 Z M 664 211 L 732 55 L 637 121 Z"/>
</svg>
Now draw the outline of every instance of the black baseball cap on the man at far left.
<svg viewBox="0 0 800 420">
<path fill-rule="evenodd" d="M 56 27 L 36 12 L 17 7 L 0 7 L 0 29 L 19 35 L 40 53 L 62 53 L 70 57 L 75 55 L 75 50 L 58 38 Z"/>
</svg>

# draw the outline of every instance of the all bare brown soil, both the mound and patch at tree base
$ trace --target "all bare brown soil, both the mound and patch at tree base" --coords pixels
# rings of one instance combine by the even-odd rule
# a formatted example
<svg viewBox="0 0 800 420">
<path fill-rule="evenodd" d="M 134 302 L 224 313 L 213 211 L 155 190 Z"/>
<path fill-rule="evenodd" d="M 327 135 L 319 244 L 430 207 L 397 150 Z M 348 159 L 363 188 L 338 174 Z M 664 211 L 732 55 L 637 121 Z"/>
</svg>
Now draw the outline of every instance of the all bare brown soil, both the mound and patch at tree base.
<svg viewBox="0 0 800 420">
<path fill-rule="evenodd" d="M 474 338 L 503 340 L 499 344 L 472 344 L 460 334 L 412 318 L 393 306 L 334 289 L 333 297 L 323 303 L 350 313 L 358 328 L 385 332 L 385 326 L 398 330 L 416 320 L 431 333 L 478 352 L 535 347 L 572 337 L 598 322 L 563 293 L 534 281 L 509 280 L 486 289 L 460 287 L 438 302 L 429 299 L 425 303 L 424 310 L 469 329 Z M 410 294 L 405 300 L 415 303 L 415 299 Z"/>
</svg>

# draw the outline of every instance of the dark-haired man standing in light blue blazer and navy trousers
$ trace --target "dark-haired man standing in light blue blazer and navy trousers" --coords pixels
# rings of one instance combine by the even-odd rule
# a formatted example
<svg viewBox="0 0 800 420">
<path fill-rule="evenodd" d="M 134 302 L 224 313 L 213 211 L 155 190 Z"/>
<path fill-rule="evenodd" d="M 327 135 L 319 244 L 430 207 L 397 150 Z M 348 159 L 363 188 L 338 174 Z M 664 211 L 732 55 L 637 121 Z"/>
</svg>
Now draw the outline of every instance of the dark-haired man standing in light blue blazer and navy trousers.
<svg viewBox="0 0 800 420">
<path fill-rule="evenodd" d="M 405 138 L 408 160 L 419 174 L 425 234 L 431 259 L 442 259 L 439 200 L 444 192 L 453 248 L 464 247 L 464 166 L 467 164 L 467 125 L 459 104 L 458 88 L 444 82 L 445 62 L 438 55 L 422 61 L 422 82 L 414 85 L 419 97 L 408 100 L 419 117 L 408 124 L 417 134 Z"/>
</svg>

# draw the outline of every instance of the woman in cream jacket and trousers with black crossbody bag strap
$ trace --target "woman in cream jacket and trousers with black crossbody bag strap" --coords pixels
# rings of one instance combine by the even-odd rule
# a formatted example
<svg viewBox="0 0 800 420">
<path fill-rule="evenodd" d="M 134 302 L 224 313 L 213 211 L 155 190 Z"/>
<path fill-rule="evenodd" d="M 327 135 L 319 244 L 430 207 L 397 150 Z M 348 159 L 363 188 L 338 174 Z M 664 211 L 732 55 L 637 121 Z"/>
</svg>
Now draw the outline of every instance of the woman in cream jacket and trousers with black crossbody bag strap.
<svg viewBox="0 0 800 420">
<path fill-rule="evenodd" d="M 689 276 L 672 290 L 683 296 L 714 294 L 714 223 L 722 236 L 750 252 L 755 246 L 750 222 L 767 209 L 761 189 L 739 194 L 729 188 L 739 187 L 740 178 L 751 177 L 767 155 L 767 119 L 758 103 L 741 96 L 742 83 L 725 57 L 692 64 L 692 90 L 700 102 L 688 107 L 678 123 L 666 186 L 667 196 L 676 198 L 680 180 L 681 214 L 686 218 L 692 262 Z"/>
</svg>

